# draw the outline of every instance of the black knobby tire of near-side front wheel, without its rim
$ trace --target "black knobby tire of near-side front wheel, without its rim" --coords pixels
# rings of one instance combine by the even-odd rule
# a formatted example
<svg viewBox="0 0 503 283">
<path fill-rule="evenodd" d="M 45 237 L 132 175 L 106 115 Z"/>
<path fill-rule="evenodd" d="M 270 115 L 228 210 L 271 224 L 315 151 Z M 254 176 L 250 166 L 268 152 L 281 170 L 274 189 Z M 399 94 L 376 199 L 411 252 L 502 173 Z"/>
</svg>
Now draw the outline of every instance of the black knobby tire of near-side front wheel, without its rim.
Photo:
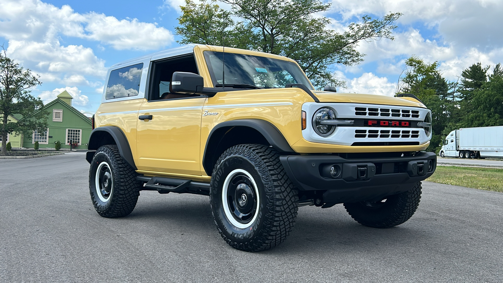
<svg viewBox="0 0 503 283">
<path fill-rule="evenodd" d="M 225 180 L 236 170 L 244 170 L 253 177 L 259 194 L 257 218 L 243 224 L 250 225 L 246 228 L 231 223 L 222 200 Z M 233 248 L 254 252 L 279 245 L 295 224 L 297 201 L 297 189 L 286 175 L 278 152 L 271 147 L 251 144 L 231 147 L 220 156 L 213 169 L 210 183 L 213 220 L 222 238 Z"/>
</svg>

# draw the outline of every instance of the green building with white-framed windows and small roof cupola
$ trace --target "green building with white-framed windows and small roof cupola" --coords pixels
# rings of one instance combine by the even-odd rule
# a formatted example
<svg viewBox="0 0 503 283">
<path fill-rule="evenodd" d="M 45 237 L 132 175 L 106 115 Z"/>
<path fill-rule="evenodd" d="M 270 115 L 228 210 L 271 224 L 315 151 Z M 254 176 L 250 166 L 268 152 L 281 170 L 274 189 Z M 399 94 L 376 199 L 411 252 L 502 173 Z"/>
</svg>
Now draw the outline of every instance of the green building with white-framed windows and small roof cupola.
<svg viewBox="0 0 503 283">
<path fill-rule="evenodd" d="M 72 149 L 87 150 L 93 130 L 92 121 L 71 106 L 72 99 L 67 91 L 63 91 L 55 100 L 47 103 L 44 110 L 49 114 L 49 127 L 34 131 L 32 136 L 23 136 L 23 147 L 34 148 L 35 142 L 38 142 L 40 149 L 54 148 L 59 141 L 62 149 L 69 149 L 71 141 Z"/>
</svg>

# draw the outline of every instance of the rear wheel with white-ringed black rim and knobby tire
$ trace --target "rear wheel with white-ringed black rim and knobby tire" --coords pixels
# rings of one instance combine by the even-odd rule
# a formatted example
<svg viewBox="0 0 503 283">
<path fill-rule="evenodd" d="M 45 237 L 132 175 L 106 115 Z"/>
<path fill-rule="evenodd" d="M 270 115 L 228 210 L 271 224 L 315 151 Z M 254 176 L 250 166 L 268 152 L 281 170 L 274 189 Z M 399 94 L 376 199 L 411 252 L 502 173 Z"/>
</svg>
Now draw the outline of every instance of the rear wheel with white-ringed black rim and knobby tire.
<svg viewBox="0 0 503 283">
<path fill-rule="evenodd" d="M 100 147 L 89 169 L 89 191 L 99 215 L 129 215 L 138 200 L 140 182 L 136 172 L 119 155 L 116 145 Z"/>
</svg>

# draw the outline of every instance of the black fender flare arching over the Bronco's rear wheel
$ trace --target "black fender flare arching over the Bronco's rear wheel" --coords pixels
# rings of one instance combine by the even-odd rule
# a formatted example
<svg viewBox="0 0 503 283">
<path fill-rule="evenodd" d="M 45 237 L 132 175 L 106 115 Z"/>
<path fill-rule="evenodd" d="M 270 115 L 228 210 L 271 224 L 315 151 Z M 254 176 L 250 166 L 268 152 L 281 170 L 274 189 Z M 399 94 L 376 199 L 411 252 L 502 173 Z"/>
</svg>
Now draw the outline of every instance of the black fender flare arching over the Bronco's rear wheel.
<svg viewBox="0 0 503 283">
<path fill-rule="evenodd" d="M 126 135 L 116 126 L 97 127 L 91 132 L 88 149 L 93 151 L 87 153 L 86 160 L 91 163 L 96 150 L 104 145 L 117 145 L 121 158 L 134 170 L 137 170 Z"/>
</svg>

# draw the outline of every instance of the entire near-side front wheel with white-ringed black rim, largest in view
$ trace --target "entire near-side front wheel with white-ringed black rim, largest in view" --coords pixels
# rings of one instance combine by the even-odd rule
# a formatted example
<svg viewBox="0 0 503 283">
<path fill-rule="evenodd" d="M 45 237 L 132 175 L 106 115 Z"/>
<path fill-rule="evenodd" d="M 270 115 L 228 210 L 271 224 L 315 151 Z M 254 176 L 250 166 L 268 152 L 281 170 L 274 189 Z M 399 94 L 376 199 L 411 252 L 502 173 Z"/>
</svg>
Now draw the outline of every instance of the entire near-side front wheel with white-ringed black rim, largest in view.
<svg viewBox="0 0 503 283">
<path fill-rule="evenodd" d="M 233 248 L 253 252 L 279 245 L 295 224 L 297 201 L 297 190 L 271 147 L 234 146 L 213 169 L 213 219 Z"/>
</svg>

